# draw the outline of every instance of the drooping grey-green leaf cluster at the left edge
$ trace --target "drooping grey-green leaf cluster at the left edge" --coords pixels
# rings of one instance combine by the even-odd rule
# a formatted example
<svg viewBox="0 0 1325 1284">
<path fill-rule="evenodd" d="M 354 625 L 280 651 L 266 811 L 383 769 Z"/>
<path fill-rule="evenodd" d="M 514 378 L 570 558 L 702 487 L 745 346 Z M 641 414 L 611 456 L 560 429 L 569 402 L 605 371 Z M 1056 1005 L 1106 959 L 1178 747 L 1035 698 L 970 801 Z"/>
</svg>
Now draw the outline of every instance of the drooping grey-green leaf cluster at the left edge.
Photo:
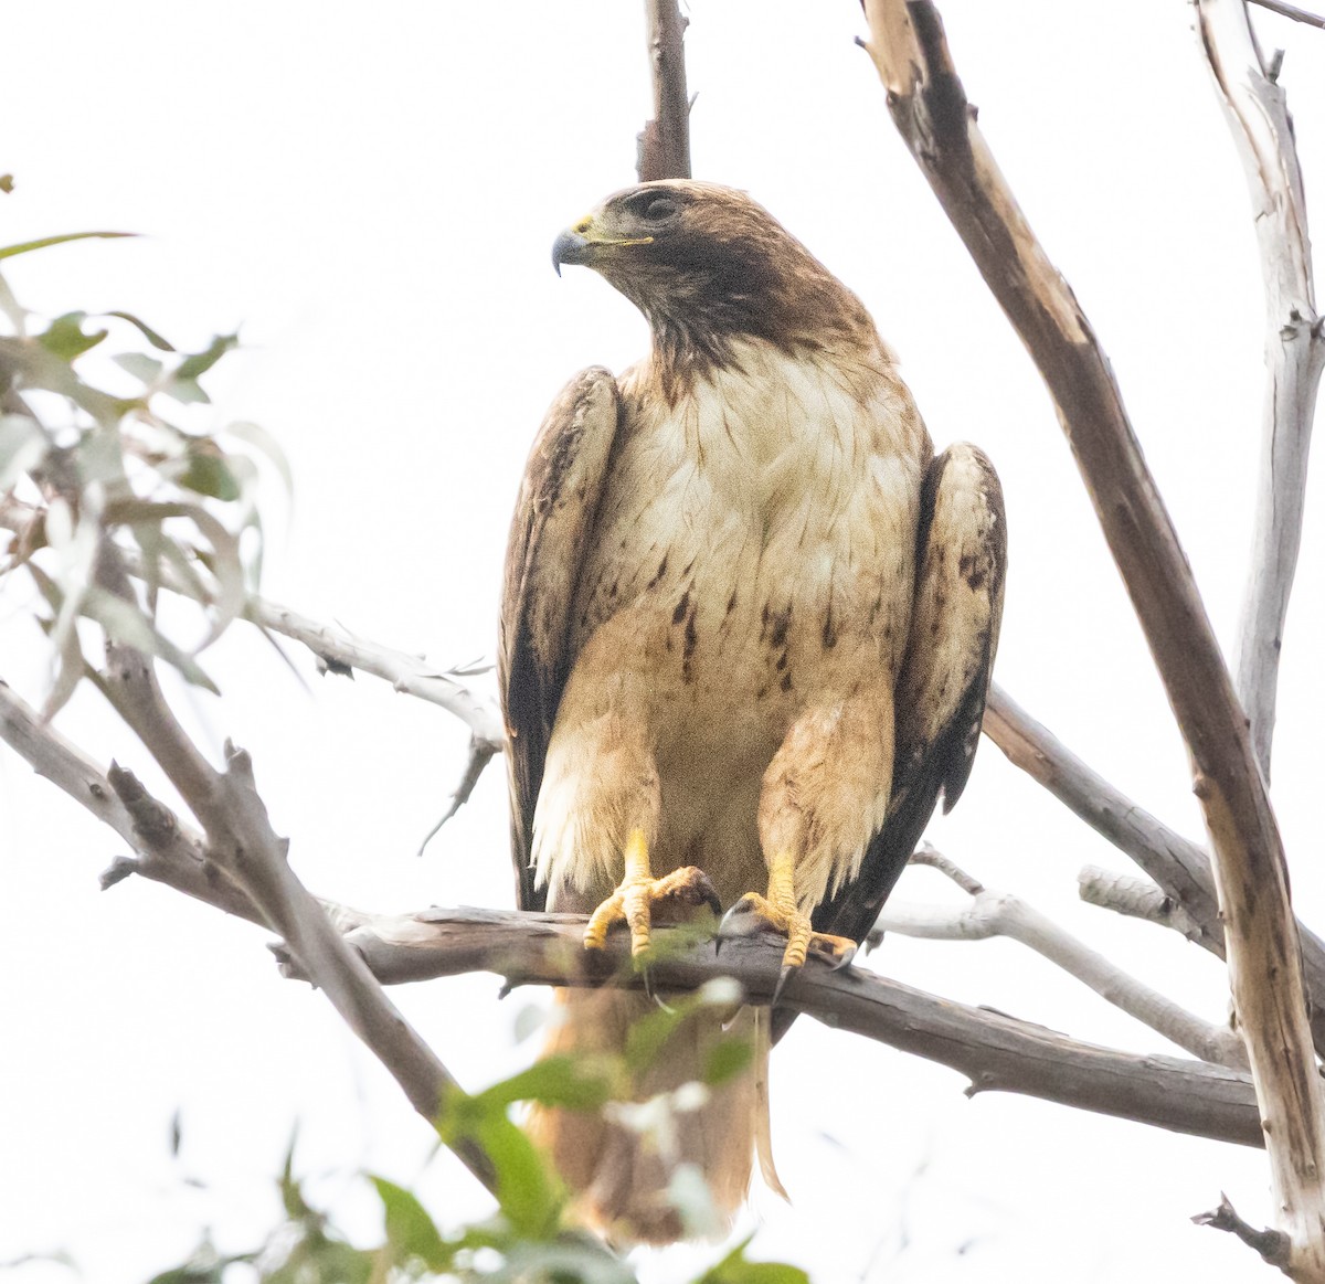
<svg viewBox="0 0 1325 1284">
<path fill-rule="evenodd" d="M 45 237 L 0 248 L 0 261 L 121 235 Z M 237 342 L 219 335 L 180 352 L 127 311 L 44 318 L 0 277 L 0 506 L 19 529 L 0 574 L 25 570 L 48 606 L 48 714 L 87 669 L 82 620 L 216 689 L 197 657 L 244 611 L 261 570 L 256 456 L 289 485 L 280 448 L 257 425 L 179 423 L 187 407 L 208 404 L 199 380 Z M 184 643 L 160 627 L 162 587 L 199 606 L 200 637 Z"/>
</svg>

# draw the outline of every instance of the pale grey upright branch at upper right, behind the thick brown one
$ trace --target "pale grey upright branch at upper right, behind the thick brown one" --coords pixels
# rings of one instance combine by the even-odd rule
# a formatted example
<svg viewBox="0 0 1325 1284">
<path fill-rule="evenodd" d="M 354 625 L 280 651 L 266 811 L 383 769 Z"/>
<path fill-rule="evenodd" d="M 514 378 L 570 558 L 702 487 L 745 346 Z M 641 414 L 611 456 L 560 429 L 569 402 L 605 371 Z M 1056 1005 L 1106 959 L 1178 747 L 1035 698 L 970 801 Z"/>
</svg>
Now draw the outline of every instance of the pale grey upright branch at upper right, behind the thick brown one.
<svg viewBox="0 0 1325 1284">
<path fill-rule="evenodd" d="M 1196 34 L 1247 171 L 1265 286 L 1256 529 L 1234 667 L 1256 759 L 1269 779 L 1279 656 L 1302 537 L 1325 335 L 1316 313 L 1306 199 L 1284 90 L 1265 73 L 1243 0 L 1198 0 Z"/>
</svg>

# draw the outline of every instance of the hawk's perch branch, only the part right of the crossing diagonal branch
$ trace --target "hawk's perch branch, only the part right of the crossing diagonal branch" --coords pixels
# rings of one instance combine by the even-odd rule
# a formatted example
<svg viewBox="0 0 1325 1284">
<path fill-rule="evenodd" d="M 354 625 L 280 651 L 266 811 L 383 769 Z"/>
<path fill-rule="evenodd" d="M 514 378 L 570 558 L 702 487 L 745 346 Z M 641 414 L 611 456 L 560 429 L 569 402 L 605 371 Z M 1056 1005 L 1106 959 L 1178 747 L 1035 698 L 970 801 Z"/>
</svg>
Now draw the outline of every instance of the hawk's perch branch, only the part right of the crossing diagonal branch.
<svg viewBox="0 0 1325 1284">
<path fill-rule="evenodd" d="M 641 986 L 625 937 L 612 933 L 606 951 L 586 951 L 583 926 L 578 914 L 429 909 L 375 918 L 347 939 L 384 985 L 494 971 L 509 987 Z M 723 943 L 719 958 L 712 941 L 678 950 L 670 938 L 682 934 L 684 941 L 685 933 L 684 928 L 656 932 L 649 965 L 655 992 L 689 991 L 729 975 L 751 1002 L 772 996 L 784 942 L 759 936 L 733 939 Z M 1261 1144 L 1251 1083 L 1226 1067 L 1093 1047 L 864 969 L 833 971 L 818 959 L 788 982 L 784 1002 L 833 1028 L 949 1065 L 970 1079 L 971 1095 L 1018 1092 L 1174 1132 Z"/>
</svg>

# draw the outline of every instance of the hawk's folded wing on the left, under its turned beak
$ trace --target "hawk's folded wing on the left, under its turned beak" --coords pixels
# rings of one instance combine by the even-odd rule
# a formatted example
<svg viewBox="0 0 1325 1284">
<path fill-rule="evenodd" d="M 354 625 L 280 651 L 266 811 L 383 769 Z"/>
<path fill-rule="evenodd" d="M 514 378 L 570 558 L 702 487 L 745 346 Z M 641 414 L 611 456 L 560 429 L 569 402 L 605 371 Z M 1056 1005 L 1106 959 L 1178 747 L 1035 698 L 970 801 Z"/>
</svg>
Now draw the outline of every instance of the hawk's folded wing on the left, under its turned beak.
<svg viewBox="0 0 1325 1284">
<path fill-rule="evenodd" d="M 576 375 L 534 440 L 506 546 L 497 676 L 506 722 L 511 857 L 521 909 L 542 909 L 530 852 L 547 741 L 575 656 L 570 617 L 620 419 L 611 371 Z"/>
</svg>

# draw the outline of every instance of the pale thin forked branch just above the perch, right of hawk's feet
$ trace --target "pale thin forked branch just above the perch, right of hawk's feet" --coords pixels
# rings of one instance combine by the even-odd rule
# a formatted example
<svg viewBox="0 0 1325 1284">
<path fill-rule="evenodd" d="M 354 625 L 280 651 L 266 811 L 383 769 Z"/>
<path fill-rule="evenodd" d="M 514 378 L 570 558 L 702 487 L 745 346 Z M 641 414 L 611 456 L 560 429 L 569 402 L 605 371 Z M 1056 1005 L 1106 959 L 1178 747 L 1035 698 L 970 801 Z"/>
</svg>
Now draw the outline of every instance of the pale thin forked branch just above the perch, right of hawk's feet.
<svg viewBox="0 0 1325 1284">
<path fill-rule="evenodd" d="M 939 869 L 971 897 L 971 904 L 961 909 L 949 909 L 943 905 L 889 901 L 869 934 L 872 942 L 882 939 L 889 932 L 931 941 L 986 941 L 990 937 L 1007 937 L 1035 950 L 1114 1007 L 1158 1031 L 1200 1060 L 1247 1069 L 1247 1051 L 1231 1030 L 1202 1020 L 1145 982 L 1129 975 L 1052 922 L 1034 905 L 1007 892 L 986 888 L 928 844 L 916 852 L 912 863 Z"/>
</svg>

